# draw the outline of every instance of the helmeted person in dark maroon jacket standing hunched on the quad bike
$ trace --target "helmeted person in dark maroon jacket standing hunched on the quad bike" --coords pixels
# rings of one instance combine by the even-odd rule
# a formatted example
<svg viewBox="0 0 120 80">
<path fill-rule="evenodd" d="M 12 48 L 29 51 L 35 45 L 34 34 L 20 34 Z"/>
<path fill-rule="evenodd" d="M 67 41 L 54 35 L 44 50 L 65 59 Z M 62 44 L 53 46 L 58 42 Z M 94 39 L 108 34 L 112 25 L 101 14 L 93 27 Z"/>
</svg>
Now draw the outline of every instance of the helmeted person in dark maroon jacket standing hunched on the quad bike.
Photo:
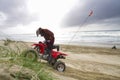
<svg viewBox="0 0 120 80">
<path fill-rule="evenodd" d="M 38 28 L 36 31 L 36 35 L 37 37 L 39 35 L 43 36 L 45 38 L 45 43 L 47 45 L 47 53 L 50 55 L 51 54 L 51 50 L 53 48 L 53 44 L 54 44 L 54 33 L 48 29 L 43 29 L 43 28 Z M 51 55 L 50 55 L 51 56 Z M 50 58 L 49 58 L 50 60 Z"/>
</svg>

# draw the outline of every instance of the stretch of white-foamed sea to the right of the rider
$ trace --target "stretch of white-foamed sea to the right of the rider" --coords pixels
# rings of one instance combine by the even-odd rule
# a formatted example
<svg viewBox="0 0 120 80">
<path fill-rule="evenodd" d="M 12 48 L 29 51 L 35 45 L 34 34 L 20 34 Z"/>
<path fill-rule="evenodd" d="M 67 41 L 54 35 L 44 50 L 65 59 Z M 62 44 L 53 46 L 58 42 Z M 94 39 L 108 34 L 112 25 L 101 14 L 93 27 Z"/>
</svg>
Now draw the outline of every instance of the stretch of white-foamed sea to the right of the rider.
<svg viewBox="0 0 120 80">
<path fill-rule="evenodd" d="M 120 47 L 120 30 L 65 32 L 59 34 L 57 41 L 74 45 Z"/>
</svg>

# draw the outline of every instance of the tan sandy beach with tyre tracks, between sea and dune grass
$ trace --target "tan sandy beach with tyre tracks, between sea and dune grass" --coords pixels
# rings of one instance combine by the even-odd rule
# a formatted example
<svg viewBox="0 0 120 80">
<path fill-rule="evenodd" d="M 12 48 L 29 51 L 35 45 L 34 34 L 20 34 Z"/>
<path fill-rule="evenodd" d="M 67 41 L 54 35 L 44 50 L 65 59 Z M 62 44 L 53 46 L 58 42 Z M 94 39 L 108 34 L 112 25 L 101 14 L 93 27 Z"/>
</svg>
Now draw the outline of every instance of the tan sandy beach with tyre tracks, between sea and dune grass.
<svg viewBox="0 0 120 80">
<path fill-rule="evenodd" d="M 22 50 L 30 48 L 32 43 L 12 42 L 9 46 L 14 49 L 15 44 Z M 60 51 L 68 54 L 63 60 L 66 71 L 48 69 L 58 80 L 120 80 L 120 49 L 60 45 Z"/>
</svg>

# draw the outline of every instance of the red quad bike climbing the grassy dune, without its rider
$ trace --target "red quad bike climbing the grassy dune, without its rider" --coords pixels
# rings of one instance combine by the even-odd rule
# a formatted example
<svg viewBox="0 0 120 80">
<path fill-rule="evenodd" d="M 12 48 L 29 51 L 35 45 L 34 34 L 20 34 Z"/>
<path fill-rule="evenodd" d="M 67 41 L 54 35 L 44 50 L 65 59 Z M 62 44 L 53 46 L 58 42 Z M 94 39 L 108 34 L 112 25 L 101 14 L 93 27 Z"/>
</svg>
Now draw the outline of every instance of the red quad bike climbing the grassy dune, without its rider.
<svg viewBox="0 0 120 80">
<path fill-rule="evenodd" d="M 59 46 L 54 45 L 51 55 L 47 53 L 47 45 L 45 43 L 39 42 L 37 44 L 33 44 L 33 49 L 27 50 L 25 52 L 26 58 L 31 58 L 33 61 L 36 61 L 38 58 L 46 60 L 55 68 L 56 70 L 63 72 L 65 71 L 65 63 L 62 61 L 59 61 L 58 59 L 65 59 L 65 56 L 67 54 L 64 54 L 62 52 L 59 52 Z M 51 56 L 51 59 L 50 59 Z"/>
</svg>

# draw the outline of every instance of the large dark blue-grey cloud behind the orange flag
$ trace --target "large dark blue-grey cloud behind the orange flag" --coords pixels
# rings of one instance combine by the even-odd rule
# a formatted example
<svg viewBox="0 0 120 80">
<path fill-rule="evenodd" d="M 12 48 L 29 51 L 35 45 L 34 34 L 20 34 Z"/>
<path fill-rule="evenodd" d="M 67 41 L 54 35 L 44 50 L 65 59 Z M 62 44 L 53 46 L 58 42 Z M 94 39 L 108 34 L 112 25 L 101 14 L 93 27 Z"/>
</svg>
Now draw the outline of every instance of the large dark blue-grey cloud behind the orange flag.
<svg viewBox="0 0 120 80">
<path fill-rule="evenodd" d="M 89 24 L 120 25 L 120 0 L 83 0 L 67 14 L 64 19 L 66 26 L 79 26 L 93 10 L 93 15 L 86 22 Z"/>
</svg>

